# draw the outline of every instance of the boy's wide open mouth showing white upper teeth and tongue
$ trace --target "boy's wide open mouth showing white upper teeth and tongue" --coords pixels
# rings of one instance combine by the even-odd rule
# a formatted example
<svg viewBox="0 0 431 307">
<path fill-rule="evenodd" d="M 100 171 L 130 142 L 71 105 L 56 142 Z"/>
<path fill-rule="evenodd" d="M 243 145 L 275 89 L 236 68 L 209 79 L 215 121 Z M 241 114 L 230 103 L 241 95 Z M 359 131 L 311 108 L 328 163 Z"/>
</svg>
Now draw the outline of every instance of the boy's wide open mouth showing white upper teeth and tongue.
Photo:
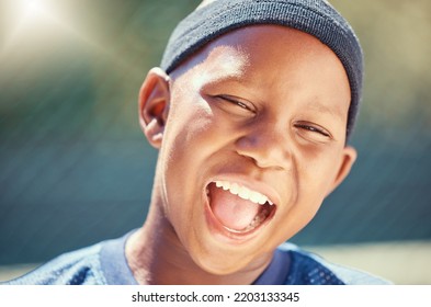
<svg viewBox="0 0 431 307">
<path fill-rule="evenodd" d="M 250 232 L 265 224 L 276 207 L 266 195 L 229 181 L 209 183 L 206 194 L 216 219 L 236 234 Z"/>
</svg>

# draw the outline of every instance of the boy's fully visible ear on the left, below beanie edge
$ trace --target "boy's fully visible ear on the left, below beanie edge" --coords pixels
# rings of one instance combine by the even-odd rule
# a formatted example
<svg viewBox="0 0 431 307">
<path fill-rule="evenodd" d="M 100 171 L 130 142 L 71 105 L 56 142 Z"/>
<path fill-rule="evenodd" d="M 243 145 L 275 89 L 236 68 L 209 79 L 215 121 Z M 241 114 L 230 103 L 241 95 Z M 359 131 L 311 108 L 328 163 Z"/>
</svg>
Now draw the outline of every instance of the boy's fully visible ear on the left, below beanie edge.
<svg viewBox="0 0 431 307">
<path fill-rule="evenodd" d="M 161 146 L 169 103 L 169 76 L 160 68 L 152 68 L 139 91 L 139 124 L 155 148 Z"/>
</svg>

